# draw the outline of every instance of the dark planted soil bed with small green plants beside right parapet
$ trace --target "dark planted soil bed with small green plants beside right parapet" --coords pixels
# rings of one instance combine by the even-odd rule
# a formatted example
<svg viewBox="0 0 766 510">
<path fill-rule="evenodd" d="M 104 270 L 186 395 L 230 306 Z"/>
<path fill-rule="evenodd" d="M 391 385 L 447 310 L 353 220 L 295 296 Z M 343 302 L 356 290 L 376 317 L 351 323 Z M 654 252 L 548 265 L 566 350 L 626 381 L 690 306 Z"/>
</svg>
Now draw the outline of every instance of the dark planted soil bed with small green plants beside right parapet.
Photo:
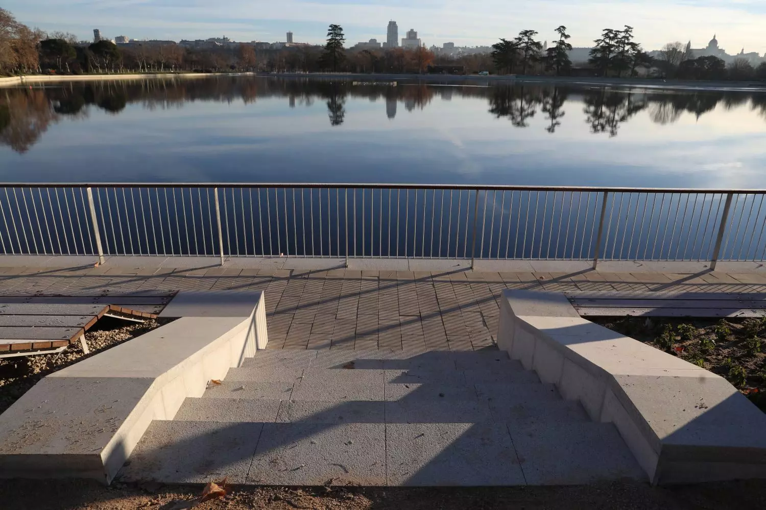
<svg viewBox="0 0 766 510">
<path fill-rule="evenodd" d="M 591 320 L 722 375 L 766 412 L 766 319 L 594 317 Z"/>
</svg>

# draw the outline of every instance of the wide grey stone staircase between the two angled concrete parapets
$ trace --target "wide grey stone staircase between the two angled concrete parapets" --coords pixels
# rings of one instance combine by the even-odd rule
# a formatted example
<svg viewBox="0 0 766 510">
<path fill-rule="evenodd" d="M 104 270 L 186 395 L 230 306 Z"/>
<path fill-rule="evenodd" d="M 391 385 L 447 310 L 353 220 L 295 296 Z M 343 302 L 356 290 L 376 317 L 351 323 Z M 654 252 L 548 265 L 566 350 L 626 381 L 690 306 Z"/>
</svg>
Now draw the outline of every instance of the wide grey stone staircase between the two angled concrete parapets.
<svg viewBox="0 0 766 510">
<path fill-rule="evenodd" d="M 646 479 L 506 352 L 266 350 L 153 421 L 119 479 L 520 486 Z"/>
</svg>

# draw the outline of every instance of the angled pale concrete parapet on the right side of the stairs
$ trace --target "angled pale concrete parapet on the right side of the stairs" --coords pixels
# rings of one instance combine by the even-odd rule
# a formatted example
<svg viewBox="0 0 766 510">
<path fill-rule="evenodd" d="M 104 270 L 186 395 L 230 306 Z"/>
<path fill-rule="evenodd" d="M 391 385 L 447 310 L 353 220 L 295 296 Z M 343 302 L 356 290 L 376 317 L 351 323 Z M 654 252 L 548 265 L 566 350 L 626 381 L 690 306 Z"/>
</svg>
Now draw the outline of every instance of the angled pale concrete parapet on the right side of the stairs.
<svg viewBox="0 0 766 510">
<path fill-rule="evenodd" d="M 766 414 L 725 378 L 579 317 L 561 293 L 506 291 L 500 349 L 620 431 L 653 483 L 766 478 Z"/>
</svg>

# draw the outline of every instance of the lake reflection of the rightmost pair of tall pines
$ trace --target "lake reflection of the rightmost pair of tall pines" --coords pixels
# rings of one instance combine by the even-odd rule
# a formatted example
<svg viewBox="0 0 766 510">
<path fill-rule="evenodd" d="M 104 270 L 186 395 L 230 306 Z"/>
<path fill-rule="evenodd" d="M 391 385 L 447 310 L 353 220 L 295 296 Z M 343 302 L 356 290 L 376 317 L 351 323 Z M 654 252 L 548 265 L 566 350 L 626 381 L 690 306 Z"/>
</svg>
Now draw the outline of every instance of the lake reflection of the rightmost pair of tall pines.
<svg viewBox="0 0 766 510">
<path fill-rule="evenodd" d="M 647 108 L 643 94 L 625 93 L 614 90 L 589 91 L 583 98 L 585 122 L 591 125 L 593 133 L 609 133 L 617 136 L 620 124 Z"/>
</svg>

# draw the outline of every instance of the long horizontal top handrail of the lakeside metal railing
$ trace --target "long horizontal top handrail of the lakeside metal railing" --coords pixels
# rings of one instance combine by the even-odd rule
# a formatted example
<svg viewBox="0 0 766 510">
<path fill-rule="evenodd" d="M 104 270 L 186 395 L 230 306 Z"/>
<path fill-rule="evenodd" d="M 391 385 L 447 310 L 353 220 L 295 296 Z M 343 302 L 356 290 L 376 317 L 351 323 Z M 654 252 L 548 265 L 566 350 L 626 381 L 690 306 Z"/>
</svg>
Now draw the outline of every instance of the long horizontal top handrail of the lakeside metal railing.
<svg viewBox="0 0 766 510">
<path fill-rule="evenodd" d="M 588 191 L 611 193 L 700 193 L 720 194 L 766 193 L 766 189 L 709 188 L 649 188 L 649 187 L 591 187 L 591 186 L 506 186 L 499 184 L 379 184 L 379 183 L 0 183 L 0 188 L 277 188 L 277 189 L 365 189 L 365 190 L 481 190 L 481 191 Z"/>
</svg>

